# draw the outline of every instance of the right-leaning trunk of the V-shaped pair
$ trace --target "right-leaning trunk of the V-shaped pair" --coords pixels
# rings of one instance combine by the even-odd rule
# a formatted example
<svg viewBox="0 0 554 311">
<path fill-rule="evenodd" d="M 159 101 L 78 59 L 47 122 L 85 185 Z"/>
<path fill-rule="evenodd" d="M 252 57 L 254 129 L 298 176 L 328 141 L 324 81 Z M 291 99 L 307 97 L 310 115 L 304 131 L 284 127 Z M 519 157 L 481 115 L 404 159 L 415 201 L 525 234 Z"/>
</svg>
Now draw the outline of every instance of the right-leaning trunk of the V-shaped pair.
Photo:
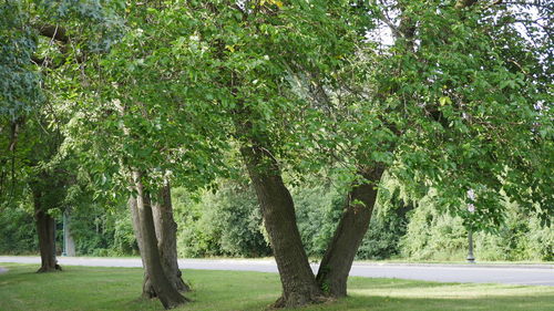
<svg viewBox="0 0 554 311">
<path fill-rule="evenodd" d="M 316 278 L 320 288 L 329 296 L 345 297 L 347 294 L 348 273 L 358 247 L 368 230 L 377 200 L 376 187 L 382 173 L 382 168 L 360 172 L 366 180 L 355 185 L 348 194 L 342 217 Z"/>
</svg>

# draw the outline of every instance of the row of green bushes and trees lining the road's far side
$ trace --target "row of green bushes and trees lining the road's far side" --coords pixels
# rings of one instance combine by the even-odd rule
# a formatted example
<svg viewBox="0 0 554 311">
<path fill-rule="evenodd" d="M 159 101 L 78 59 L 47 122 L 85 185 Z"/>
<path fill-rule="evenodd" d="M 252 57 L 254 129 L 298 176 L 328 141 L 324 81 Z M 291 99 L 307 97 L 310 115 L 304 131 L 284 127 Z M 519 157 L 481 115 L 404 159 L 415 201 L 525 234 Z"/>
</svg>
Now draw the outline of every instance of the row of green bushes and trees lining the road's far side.
<svg viewBox="0 0 554 311">
<path fill-rule="evenodd" d="M 343 195 L 332 182 L 295 187 L 296 216 L 306 251 L 324 255 L 341 214 Z M 441 212 L 430 197 L 413 201 L 388 182 L 373 210 L 357 259 L 463 261 L 468 230 L 460 217 Z M 252 187 L 220 182 L 217 191 L 189 195 L 173 190 L 181 257 L 267 257 L 271 249 Z M 495 231 L 475 232 L 478 260 L 554 260 L 554 230 L 534 215 L 507 204 L 510 214 Z M 0 253 L 34 253 L 38 249 L 32 214 L 25 206 L 0 214 Z M 58 215 L 58 249 L 62 249 L 62 217 Z M 71 230 L 80 256 L 137 255 L 125 204 L 105 209 L 80 208 L 71 215 Z"/>
</svg>

